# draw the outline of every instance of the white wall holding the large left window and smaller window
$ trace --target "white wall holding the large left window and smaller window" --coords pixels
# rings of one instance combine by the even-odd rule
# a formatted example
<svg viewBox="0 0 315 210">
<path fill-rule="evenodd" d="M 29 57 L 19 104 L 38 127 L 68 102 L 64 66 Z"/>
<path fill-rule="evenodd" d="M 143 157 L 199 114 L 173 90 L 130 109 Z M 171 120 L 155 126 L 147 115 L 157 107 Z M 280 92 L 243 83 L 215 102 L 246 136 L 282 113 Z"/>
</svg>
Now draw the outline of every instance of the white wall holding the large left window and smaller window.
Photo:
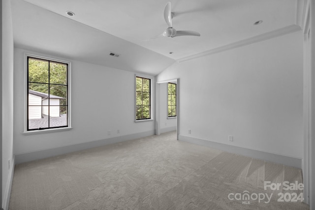
<svg viewBox="0 0 315 210">
<path fill-rule="evenodd" d="M 154 133 L 154 120 L 134 122 L 134 73 L 76 60 L 68 60 L 71 61 L 71 126 L 73 129 L 48 134 L 23 134 L 25 124 L 25 52 L 65 60 L 15 48 L 15 154 L 59 148 L 142 132 Z M 152 84 L 155 84 L 154 80 Z M 152 104 L 155 104 L 155 86 L 153 85 L 152 88 Z M 119 134 L 117 133 L 118 129 L 120 130 Z M 111 135 L 107 133 L 109 130 Z"/>
</svg>

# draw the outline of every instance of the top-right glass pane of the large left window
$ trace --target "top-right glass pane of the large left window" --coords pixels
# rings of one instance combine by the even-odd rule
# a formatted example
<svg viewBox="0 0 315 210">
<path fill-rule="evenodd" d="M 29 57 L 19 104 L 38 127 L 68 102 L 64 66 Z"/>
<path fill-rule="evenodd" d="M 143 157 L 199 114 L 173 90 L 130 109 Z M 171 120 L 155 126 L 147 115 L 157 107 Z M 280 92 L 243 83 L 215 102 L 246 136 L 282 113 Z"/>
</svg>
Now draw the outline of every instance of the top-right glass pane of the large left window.
<svg viewBox="0 0 315 210">
<path fill-rule="evenodd" d="M 67 64 L 50 62 L 50 83 L 52 84 L 67 84 Z"/>
</svg>

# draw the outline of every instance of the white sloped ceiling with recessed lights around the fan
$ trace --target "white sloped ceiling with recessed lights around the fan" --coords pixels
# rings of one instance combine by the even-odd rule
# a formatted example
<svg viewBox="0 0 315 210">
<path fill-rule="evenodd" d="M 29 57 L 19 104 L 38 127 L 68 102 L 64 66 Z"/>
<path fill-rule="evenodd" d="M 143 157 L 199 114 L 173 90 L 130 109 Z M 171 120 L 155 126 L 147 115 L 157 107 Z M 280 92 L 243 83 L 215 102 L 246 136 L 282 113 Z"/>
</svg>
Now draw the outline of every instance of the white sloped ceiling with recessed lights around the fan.
<svg viewBox="0 0 315 210">
<path fill-rule="evenodd" d="M 201 36 L 151 39 L 167 28 L 168 0 L 11 1 L 16 46 L 152 75 L 175 61 L 301 30 L 305 8 L 305 0 L 171 0 L 173 27 Z"/>
</svg>

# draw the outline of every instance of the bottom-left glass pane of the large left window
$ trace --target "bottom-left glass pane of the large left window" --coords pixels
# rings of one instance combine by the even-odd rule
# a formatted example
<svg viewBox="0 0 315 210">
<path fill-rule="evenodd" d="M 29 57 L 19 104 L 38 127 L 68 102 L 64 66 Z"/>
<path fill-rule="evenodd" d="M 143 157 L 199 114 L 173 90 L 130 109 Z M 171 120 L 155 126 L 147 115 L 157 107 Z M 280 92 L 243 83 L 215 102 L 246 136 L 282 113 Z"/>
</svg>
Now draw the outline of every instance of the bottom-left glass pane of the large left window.
<svg viewBox="0 0 315 210">
<path fill-rule="evenodd" d="M 28 129 L 48 128 L 48 117 L 42 115 L 42 106 L 29 106 Z"/>
</svg>

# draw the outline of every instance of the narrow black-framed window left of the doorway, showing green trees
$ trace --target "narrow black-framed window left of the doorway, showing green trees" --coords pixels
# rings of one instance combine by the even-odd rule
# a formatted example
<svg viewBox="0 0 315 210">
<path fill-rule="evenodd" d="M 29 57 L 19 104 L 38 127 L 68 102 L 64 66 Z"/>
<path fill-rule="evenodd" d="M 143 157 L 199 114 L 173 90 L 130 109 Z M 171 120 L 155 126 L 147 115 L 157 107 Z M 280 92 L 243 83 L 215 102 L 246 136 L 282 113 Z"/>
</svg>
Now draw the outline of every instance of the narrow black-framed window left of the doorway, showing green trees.
<svg viewBox="0 0 315 210">
<path fill-rule="evenodd" d="M 151 79 L 136 76 L 136 120 L 151 119 Z"/>
</svg>

